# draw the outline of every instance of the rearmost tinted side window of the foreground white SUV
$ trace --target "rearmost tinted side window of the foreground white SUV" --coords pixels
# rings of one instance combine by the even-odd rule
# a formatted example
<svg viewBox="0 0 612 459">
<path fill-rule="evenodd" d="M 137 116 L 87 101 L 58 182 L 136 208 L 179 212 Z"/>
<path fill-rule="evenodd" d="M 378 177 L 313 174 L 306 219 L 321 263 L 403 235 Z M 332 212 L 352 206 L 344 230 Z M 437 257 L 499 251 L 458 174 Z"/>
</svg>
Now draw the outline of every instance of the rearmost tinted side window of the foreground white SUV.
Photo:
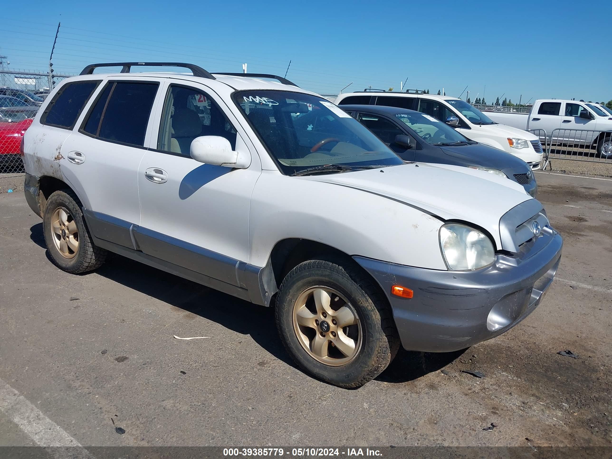
<svg viewBox="0 0 612 459">
<path fill-rule="evenodd" d="M 42 124 L 72 129 L 100 81 L 75 81 L 62 86 L 40 117 Z"/>
</svg>

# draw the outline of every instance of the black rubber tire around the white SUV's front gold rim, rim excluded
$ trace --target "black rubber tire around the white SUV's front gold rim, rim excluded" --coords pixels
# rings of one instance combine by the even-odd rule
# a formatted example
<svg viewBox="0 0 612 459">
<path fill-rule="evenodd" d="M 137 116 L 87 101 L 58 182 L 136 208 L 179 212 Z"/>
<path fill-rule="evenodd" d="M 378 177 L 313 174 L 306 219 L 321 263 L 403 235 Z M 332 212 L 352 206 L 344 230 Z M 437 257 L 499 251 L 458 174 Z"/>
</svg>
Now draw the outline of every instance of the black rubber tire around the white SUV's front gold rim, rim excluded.
<svg viewBox="0 0 612 459">
<path fill-rule="evenodd" d="M 344 266 L 343 266 L 344 265 Z M 330 366 L 310 356 L 293 327 L 293 308 L 300 294 L 328 286 L 353 306 L 362 330 L 359 353 L 347 364 Z M 276 323 L 281 340 L 296 364 L 316 378 L 346 389 L 376 378 L 397 354 L 400 340 L 384 294 L 367 273 L 350 263 L 310 260 L 294 267 L 283 279 L 277 296 Z"/>
</svg>

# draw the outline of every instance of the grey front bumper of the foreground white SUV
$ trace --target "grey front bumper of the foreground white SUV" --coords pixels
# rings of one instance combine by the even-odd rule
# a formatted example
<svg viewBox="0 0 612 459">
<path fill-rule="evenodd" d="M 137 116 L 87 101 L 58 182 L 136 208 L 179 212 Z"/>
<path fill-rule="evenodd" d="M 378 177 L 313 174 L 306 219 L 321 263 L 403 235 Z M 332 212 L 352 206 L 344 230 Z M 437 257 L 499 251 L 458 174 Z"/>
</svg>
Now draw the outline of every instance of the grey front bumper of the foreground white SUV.
<svg viewBox="0 0 612 459">
<path fill-rule="evenodd" d="M 402 346 L 450 352 L 494 338 L 517 325 L 542 301 L 561 259 L 562 239 L 550 227 L 515 257 L 498 255 L 477 271 L 436 271 L 354 256 L 383 288 Z M 401 285 L 411 299 L 392 295 Z"/>
</svg>

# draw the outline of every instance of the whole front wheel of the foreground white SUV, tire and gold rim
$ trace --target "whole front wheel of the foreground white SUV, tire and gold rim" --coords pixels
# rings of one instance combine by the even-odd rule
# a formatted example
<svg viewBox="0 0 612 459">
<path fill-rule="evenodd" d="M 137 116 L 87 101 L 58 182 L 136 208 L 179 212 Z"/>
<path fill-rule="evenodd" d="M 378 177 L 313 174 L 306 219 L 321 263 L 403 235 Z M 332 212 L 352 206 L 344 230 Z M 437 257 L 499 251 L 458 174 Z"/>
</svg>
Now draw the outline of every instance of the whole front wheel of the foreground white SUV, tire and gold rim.
<svg viewBox="0 0 612 459">
<path fill-rule="evenodd" d="M 305 261 L 286 275 L 276 322 L 297 365 L 339 387 L 378 376 L 400 343 L 389 304 L 371 278 L 330 261 Z"/>
</svg>

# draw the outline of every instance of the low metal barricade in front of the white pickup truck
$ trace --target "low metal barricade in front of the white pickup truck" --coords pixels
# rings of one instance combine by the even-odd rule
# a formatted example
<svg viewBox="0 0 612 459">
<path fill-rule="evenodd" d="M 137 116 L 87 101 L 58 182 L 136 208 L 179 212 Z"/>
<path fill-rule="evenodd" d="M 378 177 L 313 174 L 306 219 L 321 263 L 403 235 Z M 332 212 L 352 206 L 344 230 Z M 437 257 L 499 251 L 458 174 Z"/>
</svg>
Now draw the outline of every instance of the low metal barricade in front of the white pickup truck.
<svg viewBox="0 0 612 459">
<path fill-rule="evenodd" d="M 554 129 L 549 139 L 545 165 L 553 159 L 612 165 L 612 131 Z"/>
</svg>

